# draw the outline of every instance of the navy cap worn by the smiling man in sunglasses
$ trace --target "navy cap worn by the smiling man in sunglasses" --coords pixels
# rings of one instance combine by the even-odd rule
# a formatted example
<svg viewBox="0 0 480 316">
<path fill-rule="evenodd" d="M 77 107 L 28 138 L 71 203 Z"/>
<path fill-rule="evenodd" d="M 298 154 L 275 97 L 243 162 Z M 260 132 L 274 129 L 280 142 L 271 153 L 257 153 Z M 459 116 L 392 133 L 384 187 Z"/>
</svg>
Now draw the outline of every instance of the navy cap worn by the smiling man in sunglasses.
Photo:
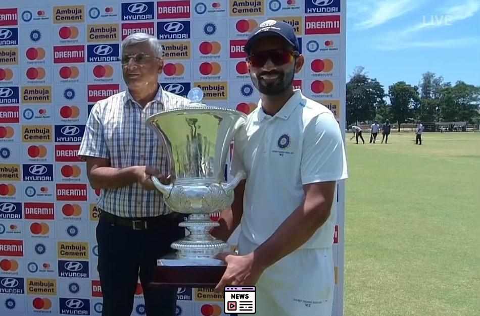
<svg viewBox="0 0 480 316">
<path fill-rule="evenodd" d="M 262 37 L 272 35 L 282 37 L 294 46 L 295 50 L 300 51 L 297 35 L 295 35 L 295 30 L 290 24 L 282 21 L 267 20 L 260 23 L 252 34 L 250 34 L 244 47 L 245 52 L 249 55 L 255 41 Z"/>
</svg>

